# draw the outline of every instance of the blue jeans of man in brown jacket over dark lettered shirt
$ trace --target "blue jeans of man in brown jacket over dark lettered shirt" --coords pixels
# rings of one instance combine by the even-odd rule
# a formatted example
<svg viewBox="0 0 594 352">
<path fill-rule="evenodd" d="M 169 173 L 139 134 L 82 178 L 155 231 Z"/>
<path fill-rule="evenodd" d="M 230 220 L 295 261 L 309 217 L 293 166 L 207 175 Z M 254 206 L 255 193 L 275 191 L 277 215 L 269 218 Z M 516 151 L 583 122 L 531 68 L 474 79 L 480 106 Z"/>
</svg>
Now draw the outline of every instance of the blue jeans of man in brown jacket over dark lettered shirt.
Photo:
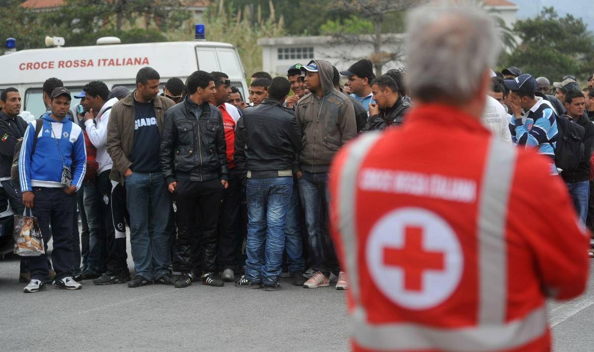
<svg viewBox="0 0 594 352">
<path fill-rule="evenodd" d="M 171 264 L 171 196 L 160 172 L 134 172 L 126 177 L 126 203 L 130 214 L 130 244 L 136 275 L 147 280 L 169 274 Z M 149 214 L 154 232 L 149 235 Z M 87 214 L 87 216 L 89 216 Z"/>
</svg>

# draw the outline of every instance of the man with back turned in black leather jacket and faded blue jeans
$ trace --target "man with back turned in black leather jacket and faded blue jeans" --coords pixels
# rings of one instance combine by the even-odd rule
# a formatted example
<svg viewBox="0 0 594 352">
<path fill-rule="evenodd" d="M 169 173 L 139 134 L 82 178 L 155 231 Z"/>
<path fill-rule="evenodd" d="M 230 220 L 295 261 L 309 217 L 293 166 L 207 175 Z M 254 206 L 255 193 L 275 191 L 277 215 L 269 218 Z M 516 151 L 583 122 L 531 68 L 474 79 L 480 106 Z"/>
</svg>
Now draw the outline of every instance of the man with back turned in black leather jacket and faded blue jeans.
<svg viewBox="0 0 594 352">
<path fill-rule="evenodd" d="M 269 99 L 246 108 L 238 121 L 233 159 L 240 177 L 247 180 L 248 259 L 237 287 L 280 288 L 286 214 L 302 148 L 295 113 L 282 106 L 289 89 L 285 77 L 275 77 L 268 88 Z"/>
</svg>

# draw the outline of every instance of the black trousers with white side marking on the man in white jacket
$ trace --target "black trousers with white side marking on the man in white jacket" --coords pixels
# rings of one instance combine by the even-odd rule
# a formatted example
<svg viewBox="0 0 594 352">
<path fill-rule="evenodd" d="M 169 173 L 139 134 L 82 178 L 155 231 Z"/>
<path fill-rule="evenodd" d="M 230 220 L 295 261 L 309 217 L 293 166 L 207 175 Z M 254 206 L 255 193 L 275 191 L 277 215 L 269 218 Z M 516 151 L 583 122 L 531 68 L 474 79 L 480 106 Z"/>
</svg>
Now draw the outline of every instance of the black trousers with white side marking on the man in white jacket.
<svg viewBox="0 0 594 352">
<path fill-rule="evenodd" d="M 102 196 L 101 210 L 105 226 L 106 269 L 112 275 L 129 275 L 126 253 L 125 219 L 129 224 L 126 208 L 126 190 L 109 179 L 111 169 L 97 176 L 97 188 Z"/>
</svg>

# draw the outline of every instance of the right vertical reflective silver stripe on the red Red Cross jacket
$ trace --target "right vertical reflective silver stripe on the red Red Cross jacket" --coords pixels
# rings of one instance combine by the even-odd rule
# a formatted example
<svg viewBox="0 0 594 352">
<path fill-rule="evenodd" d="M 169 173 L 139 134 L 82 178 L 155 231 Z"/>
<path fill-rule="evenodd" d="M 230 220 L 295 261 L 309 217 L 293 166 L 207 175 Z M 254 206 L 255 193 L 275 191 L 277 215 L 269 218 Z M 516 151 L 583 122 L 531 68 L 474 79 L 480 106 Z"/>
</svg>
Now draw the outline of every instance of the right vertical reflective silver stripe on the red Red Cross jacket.
<svg viewBox="0 0 594 352">
<path fill-rule="evenodd" d="M 479 325 L 505 322 L 507 244 L 505 222 L 516 148 L 491 138 L 478 209 Z"/>
</svg>

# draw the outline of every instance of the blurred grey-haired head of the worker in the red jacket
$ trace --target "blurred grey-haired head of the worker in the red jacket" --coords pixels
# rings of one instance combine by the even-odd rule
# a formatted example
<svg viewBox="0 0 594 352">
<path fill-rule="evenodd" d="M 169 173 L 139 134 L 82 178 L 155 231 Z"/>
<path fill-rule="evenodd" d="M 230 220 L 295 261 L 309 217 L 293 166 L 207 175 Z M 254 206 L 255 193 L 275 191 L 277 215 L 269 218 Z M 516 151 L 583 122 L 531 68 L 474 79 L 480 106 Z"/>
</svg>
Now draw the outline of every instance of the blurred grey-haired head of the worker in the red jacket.
<svg viewBox="0 0 594 352">
<path fill-rule="evenodd" d="M 406 46 L 410 95 L 459 105 L 475 96 L 502 45 L 489 15 L 466 4 L 411 10 Z"/>
</svg>

